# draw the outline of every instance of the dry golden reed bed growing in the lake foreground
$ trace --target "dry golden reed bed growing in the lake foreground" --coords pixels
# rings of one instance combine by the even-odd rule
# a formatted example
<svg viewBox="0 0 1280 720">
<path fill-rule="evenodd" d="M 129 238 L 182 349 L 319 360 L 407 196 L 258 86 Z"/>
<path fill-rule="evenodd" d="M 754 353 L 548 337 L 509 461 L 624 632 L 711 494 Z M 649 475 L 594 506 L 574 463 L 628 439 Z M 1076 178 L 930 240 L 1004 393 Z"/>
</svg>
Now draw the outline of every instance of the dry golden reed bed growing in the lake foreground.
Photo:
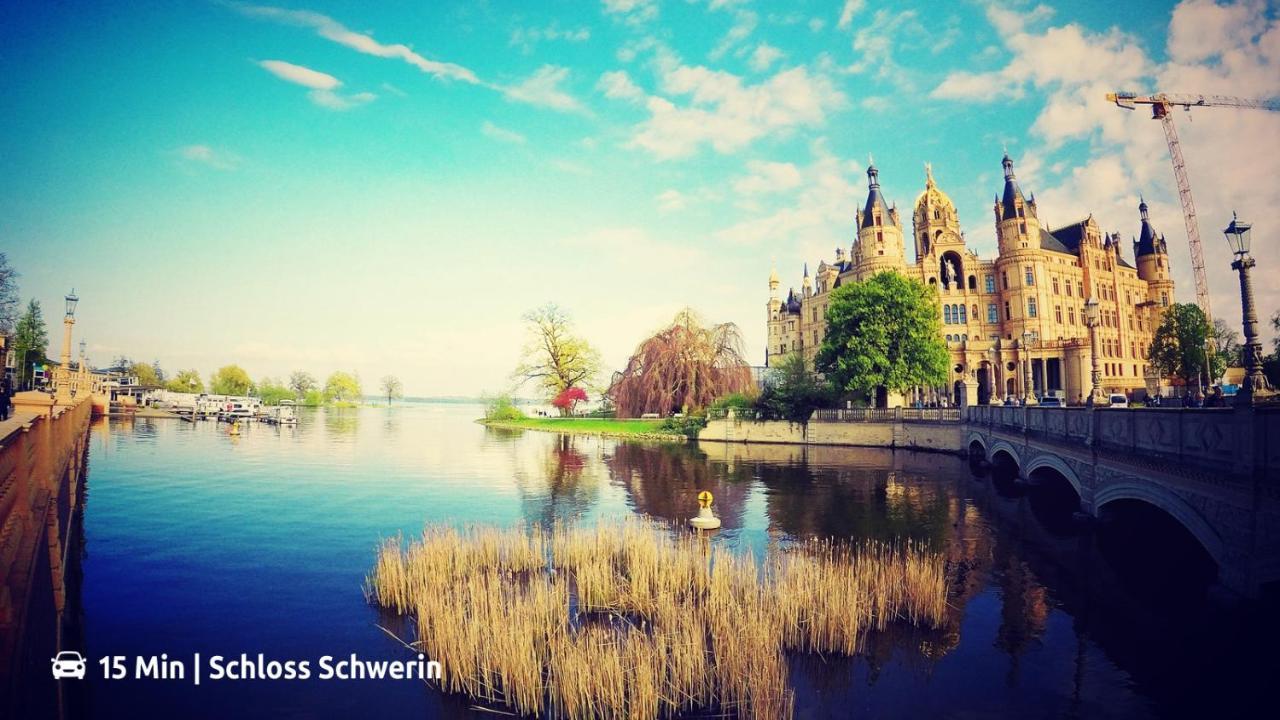
<svg viewBox="0 0 1280 720">
<path fill-rule="evenodd" d="M 813 541 L 771 553 L 627 519 L 428 528 L 378 552 L 367 592 L 416 621 L 442 685 L 521 715 L 792 716 L 786 652 L 858 652 L 893 621 L 942 624 L 943 559 Z"/>
</svg>

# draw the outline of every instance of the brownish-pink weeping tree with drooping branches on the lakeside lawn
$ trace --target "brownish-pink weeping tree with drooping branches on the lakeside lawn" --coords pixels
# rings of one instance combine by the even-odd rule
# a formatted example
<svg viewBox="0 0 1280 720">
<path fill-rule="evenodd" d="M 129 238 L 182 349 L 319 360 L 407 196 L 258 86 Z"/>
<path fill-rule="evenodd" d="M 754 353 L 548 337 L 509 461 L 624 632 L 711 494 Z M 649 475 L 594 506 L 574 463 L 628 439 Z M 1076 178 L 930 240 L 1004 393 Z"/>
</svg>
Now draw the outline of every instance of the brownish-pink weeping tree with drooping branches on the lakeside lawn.
<svg viewBox="0 0 1280 720">
<path fill-rule="evenodd" d="M 733 323 L 705 325 L 690 309 L 645 340 L 614 373 L 608 396 L 618 418 L 696 410 L 732 392 L 753 388 Z"/>
</svg>

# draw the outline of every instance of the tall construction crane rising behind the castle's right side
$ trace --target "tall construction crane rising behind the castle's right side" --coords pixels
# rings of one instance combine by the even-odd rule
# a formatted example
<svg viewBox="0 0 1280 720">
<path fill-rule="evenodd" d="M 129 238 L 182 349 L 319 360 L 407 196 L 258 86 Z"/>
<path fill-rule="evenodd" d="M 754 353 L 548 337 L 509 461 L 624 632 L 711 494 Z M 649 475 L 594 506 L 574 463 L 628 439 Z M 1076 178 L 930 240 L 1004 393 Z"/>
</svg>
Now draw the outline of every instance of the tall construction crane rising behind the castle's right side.
<svg viewBox="0 0 1280 720">
<path fill-rule="evenodd" d="M 1208 304 L 1208 278 L 1204 275 L 1204 251 L 1201 249 L 1199 223 L 1196 220 L 1196 204 L 1192 201 L 1192 183 L 1187 177 L 1187 160 L 1178 142 L 1178 129 L 1174 127 L 1175 106 L 1184 110 L 1192 108 L 1247 108 L 1253 110 L 1280 110 L 1275 100 L 1252 100 L 1248 97 L 1228 97 L 1224 95 L 1175 95 L 1157 92 L 1138 95 L 1135 92 L 1108 92 L 1107 100 L 1125 110 L 1138 105 L 1151 105 L 1151 117 L 1165 127 L 1165 140 L 1169 141 L 1169 158 L 1174 161 L 1174 179 L 1178 182 L 1178 197 L 1183 201 L 1183 222 L 1187 223 L 1187 242 L 1192 250 L 1192 272 L 1196 275 L 1196 302 L 1204 311 L 1210 327 L 1213 327 L 1213 314 Z"/>
</svg>

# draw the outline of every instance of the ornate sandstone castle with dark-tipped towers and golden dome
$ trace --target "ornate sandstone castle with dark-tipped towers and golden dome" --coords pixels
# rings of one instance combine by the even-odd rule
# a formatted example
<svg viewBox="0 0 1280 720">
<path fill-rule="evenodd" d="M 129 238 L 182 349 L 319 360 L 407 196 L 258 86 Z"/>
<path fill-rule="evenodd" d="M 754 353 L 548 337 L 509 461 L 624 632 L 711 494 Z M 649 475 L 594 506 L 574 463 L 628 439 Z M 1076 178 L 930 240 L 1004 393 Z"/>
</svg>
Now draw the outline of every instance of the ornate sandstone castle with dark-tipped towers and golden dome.
<svg viewBox="0 0 1280 720">
<path fill-rule="evenodd" d="M 938 291 L 938 315 L 951 351 L 948 384 L 920 388 L 914 400 L 946 397 L 955 404 L 1000 402 L 1030 389 L 1083 402 L 1092 387 L 1089 329 L 1084 302 L 1096 299 L 1098 365 L 1107 392 L 1155 392 L 1147 347 L 1161 314 L 1174 300 L 1165 238 L 1138 206 L 1142 228 L 1134 240 L 1137 268 L 1124 259 L 1119 233 L 1103 233 L 1093 215 L 1048 229 L 1041 225 L 1036 195 L 1024 197 L 1014 161 L 1004 158 L 1005 190 L 996 197 L 998 255 L 983 260 L 965 246 L 951 199 L 925 167 L 924 192 L 915 200 L 911 237 L 915 263 L 908 264 L 902 220 L 881 193 L 878 173 L 867 169 L 867 204 L 858 211 L 858 238 L 849 255 L 836 249 L 817 273 L 805 264 L 800 292 L 778 296 L 778 274 L 769 275 L 765 363 L 801 352 L 812 361 L 826 333 L 831 291 L 844 282 L 893 270 Z"/>
</svg>

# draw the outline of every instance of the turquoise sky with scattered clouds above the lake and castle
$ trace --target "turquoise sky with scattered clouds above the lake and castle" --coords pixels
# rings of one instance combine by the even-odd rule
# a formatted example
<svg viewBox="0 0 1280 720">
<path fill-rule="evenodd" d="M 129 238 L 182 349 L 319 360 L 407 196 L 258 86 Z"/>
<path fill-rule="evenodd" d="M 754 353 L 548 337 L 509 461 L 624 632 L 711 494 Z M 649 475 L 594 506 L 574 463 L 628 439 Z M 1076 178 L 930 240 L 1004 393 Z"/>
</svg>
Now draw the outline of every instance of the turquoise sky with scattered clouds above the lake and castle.
<svg viewBox="0 0 1280 720">
<path fill-rule="evenodd" d="M 1112 88 L 1280 94 L 1266 3 L 26 3 L 0 10 L 0 249 L 77 337 L 255 378 L 502 388 L 556 301 L 621 366 L 684 305 L 764 345 L 765 279 L 933 164 L 995 251 L 1005 147 L 1050 224 L 1137 232 L 1192 300 L 1164 136 Z M 1231 209 L 1280 252 L 1276 114 L 1179 118 L 1216 314 Z M 1260 284 L 1263 310 L 1280 288 Z M 56 334 L 56 333 L 55 333 Z M 56 348 L 54 348 L 56 355 Z"/>
</svg>

